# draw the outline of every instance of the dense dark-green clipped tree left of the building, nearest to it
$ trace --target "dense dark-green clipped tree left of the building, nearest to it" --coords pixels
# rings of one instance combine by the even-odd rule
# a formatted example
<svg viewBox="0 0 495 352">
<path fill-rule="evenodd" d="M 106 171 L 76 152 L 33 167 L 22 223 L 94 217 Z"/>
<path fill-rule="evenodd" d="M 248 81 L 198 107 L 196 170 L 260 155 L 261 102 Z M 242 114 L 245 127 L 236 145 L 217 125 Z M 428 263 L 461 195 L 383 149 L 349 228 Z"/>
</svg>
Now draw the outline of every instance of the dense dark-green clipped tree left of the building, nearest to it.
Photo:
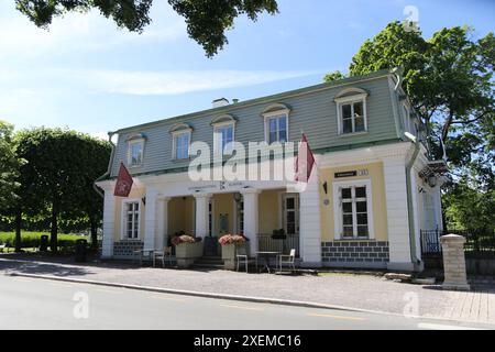
<svg viewBox="0 0 495 352">
<path fill-rule="evenodd" d="M 110 145 L 62 129 L 23 130 L 16 139 L 18 155 L 28 161 L 21 167 L 16 232 L 23 213 L 45 215 L 51 223 L 51 249 L 56 252 L 62 215 L 66 219 L 87 216 L 91 226 L 101 218 L 102 201 L 92 182 L 107 169 Z M 92 229 L 96 237 L 96 226 Z"/>
</svg>

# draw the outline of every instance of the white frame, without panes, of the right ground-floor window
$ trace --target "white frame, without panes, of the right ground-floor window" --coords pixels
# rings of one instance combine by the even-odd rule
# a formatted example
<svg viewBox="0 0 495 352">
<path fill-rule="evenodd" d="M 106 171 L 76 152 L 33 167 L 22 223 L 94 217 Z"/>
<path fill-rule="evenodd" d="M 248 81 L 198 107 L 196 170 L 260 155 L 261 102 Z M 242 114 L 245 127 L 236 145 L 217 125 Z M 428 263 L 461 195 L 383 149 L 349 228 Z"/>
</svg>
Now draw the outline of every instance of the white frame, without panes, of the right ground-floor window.
<svg viewBox="0 0 495 352">
<path fill-rule="evenodd" d="M 340 199 L 340 189 L 349 187 L 366 187 L 366 209 L 367 209 L 367 232 L 369 235 L 358 237 L 358 232 L 352 238 L 343 237 L 343 224 L 342 224 L 342 205 Z M 336 240 L 374 240 L 375 239 L 375 228 L 373 223 L 373 190 L 371 179 L 355 179 L 345 182 L 334 182 L 333 183 L 333 221 L 334 221 L 334 238 Z M 354 215 L 354 211 L 353 211 Z M 358 222 L 353 221 L 353 226 L 356 227 Z"/>
</svg>

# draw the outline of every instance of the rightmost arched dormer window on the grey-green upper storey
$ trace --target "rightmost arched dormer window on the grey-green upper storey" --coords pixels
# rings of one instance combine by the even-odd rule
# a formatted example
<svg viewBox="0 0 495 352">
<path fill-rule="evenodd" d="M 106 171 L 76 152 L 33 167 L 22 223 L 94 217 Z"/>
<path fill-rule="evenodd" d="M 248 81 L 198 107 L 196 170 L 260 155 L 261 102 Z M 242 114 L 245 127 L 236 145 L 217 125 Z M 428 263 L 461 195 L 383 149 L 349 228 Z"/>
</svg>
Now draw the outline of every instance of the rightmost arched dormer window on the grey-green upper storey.
<svg viewBox="0 0 495 352">
<path fill-rule="evenodd" d="M 362 133 L 367 131 L 367 92 L 360 88 L 350 88 L 336 97 L 339 134 Z"/>
</svg>

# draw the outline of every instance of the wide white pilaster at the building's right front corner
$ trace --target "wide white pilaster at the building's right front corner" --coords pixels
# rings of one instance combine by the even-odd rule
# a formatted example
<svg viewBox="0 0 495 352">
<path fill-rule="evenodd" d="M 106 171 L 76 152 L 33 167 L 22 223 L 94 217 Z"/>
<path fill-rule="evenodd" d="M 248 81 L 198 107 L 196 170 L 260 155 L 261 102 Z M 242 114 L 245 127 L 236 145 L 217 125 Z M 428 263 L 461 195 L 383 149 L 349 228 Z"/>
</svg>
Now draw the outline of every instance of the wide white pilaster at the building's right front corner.
<svg viewBox="0 0 495 352">
<path fill-rule="evenodd" d="M 406 160 L 389 157 L 383 161 L 387 204 L 387 230 L 391 270 L 413 271 L 407 209 Z"/>
</svg>

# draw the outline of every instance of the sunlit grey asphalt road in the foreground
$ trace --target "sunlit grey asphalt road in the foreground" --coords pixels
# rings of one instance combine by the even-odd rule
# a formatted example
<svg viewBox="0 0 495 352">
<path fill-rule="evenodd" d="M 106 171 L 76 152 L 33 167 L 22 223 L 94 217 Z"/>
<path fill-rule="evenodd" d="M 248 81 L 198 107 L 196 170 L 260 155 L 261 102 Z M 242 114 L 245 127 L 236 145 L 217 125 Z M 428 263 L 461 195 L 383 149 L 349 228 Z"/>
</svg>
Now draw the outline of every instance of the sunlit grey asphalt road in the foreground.
<svg viewBox="0 0 495 352">
<path fill-rule="evenodd" d="M 3 329 L 332 330 L 495 326 L 158 294 L 0 275 Z"/>
</svg>

